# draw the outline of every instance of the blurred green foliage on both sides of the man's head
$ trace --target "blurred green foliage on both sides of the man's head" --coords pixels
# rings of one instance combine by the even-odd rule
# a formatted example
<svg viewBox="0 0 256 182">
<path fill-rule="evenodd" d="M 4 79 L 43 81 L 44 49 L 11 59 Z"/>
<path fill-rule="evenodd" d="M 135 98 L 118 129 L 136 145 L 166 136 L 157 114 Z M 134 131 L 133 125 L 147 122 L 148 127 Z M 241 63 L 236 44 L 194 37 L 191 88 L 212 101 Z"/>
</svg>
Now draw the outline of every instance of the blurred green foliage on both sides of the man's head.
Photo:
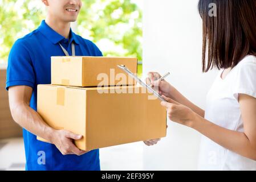
<svg viewBox="0 0 256 182">
<path fill-rule="evenodd" d="M 142 0 L 138 0 L 142 1 Z M 82 0 L 78 34 L 100 47 L 104 56 L 142 60 L 142 12 L 132 0 Z M 39 0 L 0 0 L 0 60 L 6 61 L 18 38 L 39 26 L 46 8 Z"/>
</svg>

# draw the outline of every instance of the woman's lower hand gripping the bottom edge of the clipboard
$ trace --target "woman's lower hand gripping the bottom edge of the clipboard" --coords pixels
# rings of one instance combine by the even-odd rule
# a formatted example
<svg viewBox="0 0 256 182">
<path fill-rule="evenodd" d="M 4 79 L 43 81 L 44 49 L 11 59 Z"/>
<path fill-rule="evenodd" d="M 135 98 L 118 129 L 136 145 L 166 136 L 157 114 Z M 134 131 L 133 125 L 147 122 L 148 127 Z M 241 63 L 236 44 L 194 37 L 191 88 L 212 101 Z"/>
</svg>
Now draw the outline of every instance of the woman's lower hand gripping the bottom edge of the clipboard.
<svg viewBox="0 0 256 182">
<path fill-rule="evenodd" d="M 168 117 L 171 121 L 180 123 L 181 125 L 185 125 L 188 127 L 193 127 L 194 122 L 196 122 L 196 113 L 192 109 L 187 106 L 184 106 L 171 98 L 162 97 L 167 102 L 161 102 L 161 105 L 166 107 Z"/>
</svg>

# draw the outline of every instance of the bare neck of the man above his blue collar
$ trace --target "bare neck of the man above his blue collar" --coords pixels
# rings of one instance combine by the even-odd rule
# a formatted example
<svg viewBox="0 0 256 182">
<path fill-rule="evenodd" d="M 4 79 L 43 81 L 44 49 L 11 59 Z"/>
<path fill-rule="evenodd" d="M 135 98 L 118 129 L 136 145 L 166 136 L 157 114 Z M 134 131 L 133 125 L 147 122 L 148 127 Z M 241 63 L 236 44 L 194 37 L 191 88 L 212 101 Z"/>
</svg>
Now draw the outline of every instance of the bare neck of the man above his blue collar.
<svg viewBox="0 0 256 182">
<path fill-rule="evenodd" d="M 54 31 L 58 32 L 58 34 L 64 36 L 64 38 L 68 39 L 70 36 L 70 22 L 61 22 L 59 20 L 55 20 L 47 16 L 46 24 L 50 26 Z"/>
</svg>

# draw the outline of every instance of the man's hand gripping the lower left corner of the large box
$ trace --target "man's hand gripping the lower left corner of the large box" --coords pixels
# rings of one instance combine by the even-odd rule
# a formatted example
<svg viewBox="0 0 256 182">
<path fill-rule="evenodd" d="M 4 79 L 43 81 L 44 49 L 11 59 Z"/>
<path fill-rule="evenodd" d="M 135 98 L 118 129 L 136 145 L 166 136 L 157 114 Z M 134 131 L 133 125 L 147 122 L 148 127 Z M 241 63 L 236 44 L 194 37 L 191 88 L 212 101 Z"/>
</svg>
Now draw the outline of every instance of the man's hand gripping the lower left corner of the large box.
<svg viewBox="0 0 256 182">
<path fill-rule="evenodd" d="M 82 139 L 82 137 L 82 135 L 74 134 L 71 131 L 54 130 L 54 132 L 52 133 L 51 143 L 55 144 L 55 146 L 63 155 L 83 155 L 89 151 L 80 150 L 74 144 L 74 140 Z"/>
</svg>

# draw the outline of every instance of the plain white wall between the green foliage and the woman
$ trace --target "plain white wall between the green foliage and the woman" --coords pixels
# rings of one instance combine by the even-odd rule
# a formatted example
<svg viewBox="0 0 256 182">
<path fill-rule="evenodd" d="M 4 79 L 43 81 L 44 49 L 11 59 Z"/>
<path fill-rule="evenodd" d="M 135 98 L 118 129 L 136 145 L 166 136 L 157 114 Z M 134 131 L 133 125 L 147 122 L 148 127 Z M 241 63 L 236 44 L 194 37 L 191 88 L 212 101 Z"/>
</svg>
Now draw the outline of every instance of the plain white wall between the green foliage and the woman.
<svg viewBox="0 0 256 182">
<path fill-rule="evenodd" d="M 157 71 L 202 108 L 216 71 L 202 73 L 198 0 L 144 0 L 143 73 Z M 144 169 L 196 169 L 200 134 L 168 121 L 167 137 L 144 147 Z"/>
</svg>

